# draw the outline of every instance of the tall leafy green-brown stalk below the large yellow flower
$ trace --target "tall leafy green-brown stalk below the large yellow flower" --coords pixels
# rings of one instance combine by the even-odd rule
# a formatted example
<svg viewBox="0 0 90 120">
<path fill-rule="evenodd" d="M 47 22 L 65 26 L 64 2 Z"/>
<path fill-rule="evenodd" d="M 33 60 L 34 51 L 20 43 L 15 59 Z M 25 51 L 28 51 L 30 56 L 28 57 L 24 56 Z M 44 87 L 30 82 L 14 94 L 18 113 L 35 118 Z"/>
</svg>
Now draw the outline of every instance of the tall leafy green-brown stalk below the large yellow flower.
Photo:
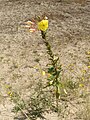
<svg viewBox="0 0 90 120">
<path fill-rule="evenodd" d="M 42 34 L 42 38 L 44 40 L 46 49 L 47 49 L 47 54 L 49 55 L 49 60 L 51 61 L 51 65 L 53 68 L 53 71 L 51 72 L 51 74 L 54 76 L 53 82 L 52 82 L 52 86 L 55 87 L 55 96 L 56 96 L 56 106 L 57 106 L 57 110 L 58 110 L 58 100 L 59 100 L 59 96 L 60 96 L 60 72 L 61 72 L 61 65 L 57 65 L 57 62 L 59 60 L 59 58 L 55 59 L 55 55 L 53 54 L 53 51 L 51 49 L 51 45 L 49 44 L 49 42 L 46 39 L 46 32 L 41 31 Z"/>
</svg>

